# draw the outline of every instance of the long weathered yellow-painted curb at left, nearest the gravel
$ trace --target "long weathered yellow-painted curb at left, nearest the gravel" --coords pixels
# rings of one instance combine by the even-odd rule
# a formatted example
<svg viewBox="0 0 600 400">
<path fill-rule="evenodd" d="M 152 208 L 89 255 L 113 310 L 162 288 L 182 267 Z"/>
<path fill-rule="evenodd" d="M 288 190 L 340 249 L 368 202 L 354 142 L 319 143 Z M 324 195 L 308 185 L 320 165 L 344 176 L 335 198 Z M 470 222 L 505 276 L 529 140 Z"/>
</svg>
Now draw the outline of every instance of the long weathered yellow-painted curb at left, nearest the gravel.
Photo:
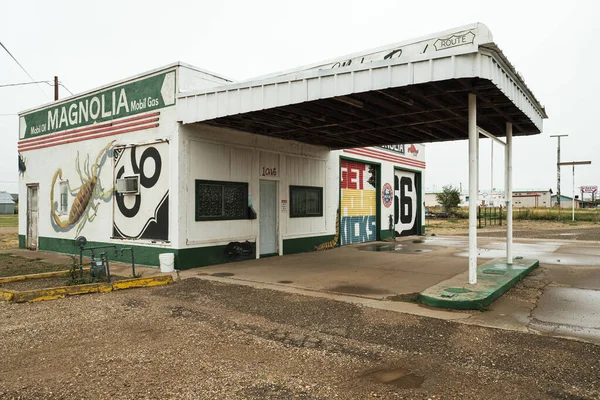
<svg viewBox="0 0 600 400">
<path fill-rule="evenodd" d="M 67 271 L 68 273 L 68 271 Z M 35 274 L 45 275 L 45 274 Z M 25 276 L 25 275 L 21 275 Z M 60 275 L 50 275 L 60 276 Z M 45 278 L 45 276 L 38 276 L 37 278 Z M 12 277 L 15 278 L 15 277 Z M 35 278 L 28 278 L 35 279 Z M 17 279 L 22 280 L 22 279 Z M 32 303 L 36 301 L 44 300 L 56 300 L 62 299 L 67 296 L 75 296 L 79 294 L 87 293 L 107 293 L 114 290 L 132 289 L 137 287 L 152 287 L 159 285 L 166 285 L 173 282 L 171 275 L 159 275 L 150 278 L 133 278 L 124 279 L 112 283 L 90 283 L 85 285 L 73 285 L 73 286 L 59 286 L 53 288 L 17 291 L 0 289 L 0 299 L 11 301 L 13 303 Z"/>
</svg>

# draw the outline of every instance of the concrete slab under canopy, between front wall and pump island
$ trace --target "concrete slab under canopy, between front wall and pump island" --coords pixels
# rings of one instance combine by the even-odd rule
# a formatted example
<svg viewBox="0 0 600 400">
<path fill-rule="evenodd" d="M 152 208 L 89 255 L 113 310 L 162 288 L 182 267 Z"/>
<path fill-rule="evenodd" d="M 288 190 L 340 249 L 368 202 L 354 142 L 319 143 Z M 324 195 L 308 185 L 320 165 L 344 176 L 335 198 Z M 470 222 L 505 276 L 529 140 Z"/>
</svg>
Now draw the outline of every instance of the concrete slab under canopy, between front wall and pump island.
<svg viewBox="0 0 600 400">
<path fill-rule="evenodd" d="M 465 270 L 456 249 L 420 239 L 344 246 L 181 271 L 180 276 L 228 277 L 372 299 L 418 293 Z"/>
</svg>

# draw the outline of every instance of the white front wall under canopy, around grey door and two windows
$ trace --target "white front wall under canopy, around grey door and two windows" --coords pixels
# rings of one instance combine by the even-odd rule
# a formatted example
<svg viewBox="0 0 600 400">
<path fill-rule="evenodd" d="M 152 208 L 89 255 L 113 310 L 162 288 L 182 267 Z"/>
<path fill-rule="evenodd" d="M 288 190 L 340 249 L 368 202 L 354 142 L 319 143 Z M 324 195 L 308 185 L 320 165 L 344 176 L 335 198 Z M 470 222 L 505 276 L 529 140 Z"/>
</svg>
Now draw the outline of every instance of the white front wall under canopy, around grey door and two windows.
<svg viewBox="0 0 600 400">
<path fill-rule="evenodd" d="M 260 215 L 259 182 L 279 183 L 279 253 L 283 239 L 333 234 L 335 210 L 328 198 L 336 199 L 337 185 L 328 171 L 329 150 L 293 141 L 239 132 L 208 125 L 180 125 L 179 248 L 225 245 L 232 241 L 260 243 L 259 220 L 196 221 L 196 179 L 248 182 L 252 205 Z M 276 170 L 276 175 L 268 171 Z M 263 175 L 264 174 L 264 175 Z M 290 185 L 324 188 L 323 217 L 289 218 Z M 287 201 L 282 210 L 281 201 Z"/>
</svg>

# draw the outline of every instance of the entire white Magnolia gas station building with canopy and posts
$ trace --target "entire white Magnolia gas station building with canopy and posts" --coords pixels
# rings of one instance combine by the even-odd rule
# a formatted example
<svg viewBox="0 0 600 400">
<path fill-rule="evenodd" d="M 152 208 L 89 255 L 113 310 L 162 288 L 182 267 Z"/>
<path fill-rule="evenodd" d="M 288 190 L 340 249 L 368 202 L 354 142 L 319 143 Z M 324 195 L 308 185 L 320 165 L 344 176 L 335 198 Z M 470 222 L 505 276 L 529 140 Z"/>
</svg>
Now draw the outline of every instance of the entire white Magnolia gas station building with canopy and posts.
<svg viewBox="0 0 600 400">
<path fill-rule="evenodd" d="M 479 138 L 511 191 L 512 139 L 544 118 L 480 23 L 241 82 L 175 63 L 20 114 L 20 245 L 84 235 L 191 268 L 423 234 L 421 143 L 468 138 L 448 162 L 477 198 Z"/>
</svg>

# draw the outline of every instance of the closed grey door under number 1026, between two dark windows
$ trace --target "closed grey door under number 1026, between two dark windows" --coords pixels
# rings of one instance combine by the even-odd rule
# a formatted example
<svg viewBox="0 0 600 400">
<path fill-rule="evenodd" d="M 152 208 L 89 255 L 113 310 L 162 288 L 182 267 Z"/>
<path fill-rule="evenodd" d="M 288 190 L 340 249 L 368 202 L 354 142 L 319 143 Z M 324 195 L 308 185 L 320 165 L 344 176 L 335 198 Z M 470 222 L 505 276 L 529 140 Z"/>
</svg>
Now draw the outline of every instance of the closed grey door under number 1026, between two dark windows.
<svg viewBox="0 0 600 400">
<path fill-rule="evenodd" d="M 260 181 L 260 255 L 277 254 L 277 182 Z"/>
</svg>

